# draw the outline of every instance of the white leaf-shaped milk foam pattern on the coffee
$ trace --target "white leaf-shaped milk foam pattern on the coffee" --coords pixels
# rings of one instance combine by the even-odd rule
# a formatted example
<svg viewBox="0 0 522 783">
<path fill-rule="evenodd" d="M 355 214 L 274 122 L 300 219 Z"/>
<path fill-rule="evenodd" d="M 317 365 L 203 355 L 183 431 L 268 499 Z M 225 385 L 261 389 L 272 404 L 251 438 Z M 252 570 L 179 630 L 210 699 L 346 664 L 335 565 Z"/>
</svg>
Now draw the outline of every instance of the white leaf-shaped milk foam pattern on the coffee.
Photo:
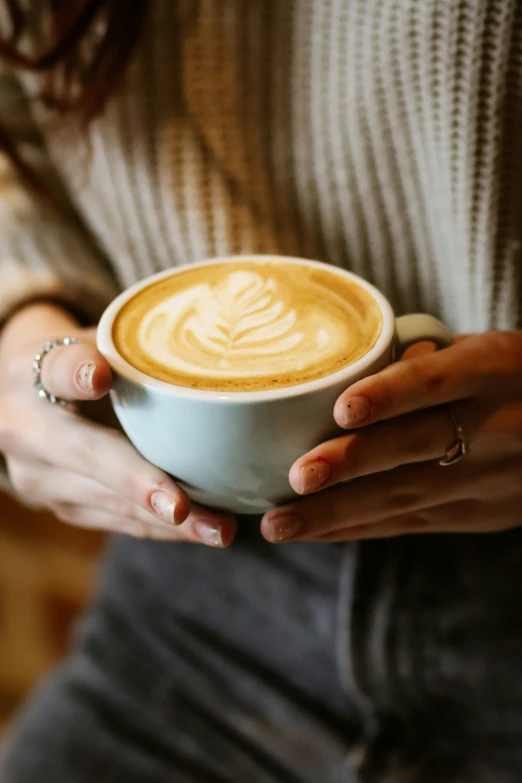
<svg viewBox="0 0 522 783">
<path fill-rule="evenodd" d="M 279 370 L 296 363 L 303 369 L 337 350 L 337 319 L 328 311 L 317 316 L 298 317 L 273 278 L 231 271 L 216 285 L 195 285 L 159 302 L 142 321 L 139 343 L 149 361 L 174 372 L 248 378 L 272 373 L 275 363 Z"/>
</svg>

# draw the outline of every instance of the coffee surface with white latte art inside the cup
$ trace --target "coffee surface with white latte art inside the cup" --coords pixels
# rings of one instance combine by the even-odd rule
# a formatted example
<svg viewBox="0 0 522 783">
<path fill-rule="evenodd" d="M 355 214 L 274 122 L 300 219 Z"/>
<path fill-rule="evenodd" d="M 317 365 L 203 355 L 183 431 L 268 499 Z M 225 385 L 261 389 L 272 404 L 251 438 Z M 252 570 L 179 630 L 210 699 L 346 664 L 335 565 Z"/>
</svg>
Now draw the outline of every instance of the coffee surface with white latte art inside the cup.
<svg viewBox="0 0 522 783">
<path fill-rule="evenodd" d="M 327 265 L 238 260 L 157 280 L 117 314 L 113 340 L 158 380 L 214 391 L 313 381 L 364 356 L 382 328 L 365 288 Z"/>
</svg>

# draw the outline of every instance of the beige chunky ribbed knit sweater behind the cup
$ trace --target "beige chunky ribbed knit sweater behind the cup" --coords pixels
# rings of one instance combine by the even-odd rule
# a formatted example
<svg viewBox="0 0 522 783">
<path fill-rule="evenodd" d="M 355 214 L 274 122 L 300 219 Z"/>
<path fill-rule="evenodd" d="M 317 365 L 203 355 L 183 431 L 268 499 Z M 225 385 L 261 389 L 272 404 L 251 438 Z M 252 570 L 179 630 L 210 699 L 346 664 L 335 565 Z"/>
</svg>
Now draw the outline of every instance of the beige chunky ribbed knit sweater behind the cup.
<svg viewBox="0 0 522 783">
<path fill-rule="evenodd" d="M 2 115 L 90 236 L 2 163 L 5 309 L 51 292 L 94 320 L 157 270 L 278 252 L 350 268 L 398 312 L 455 330 L 521 326 L 520 2 L 150 5 L 124 88 L 88 138 L 37 107 L 30 121 L 3 77 Z"/>
</svg>

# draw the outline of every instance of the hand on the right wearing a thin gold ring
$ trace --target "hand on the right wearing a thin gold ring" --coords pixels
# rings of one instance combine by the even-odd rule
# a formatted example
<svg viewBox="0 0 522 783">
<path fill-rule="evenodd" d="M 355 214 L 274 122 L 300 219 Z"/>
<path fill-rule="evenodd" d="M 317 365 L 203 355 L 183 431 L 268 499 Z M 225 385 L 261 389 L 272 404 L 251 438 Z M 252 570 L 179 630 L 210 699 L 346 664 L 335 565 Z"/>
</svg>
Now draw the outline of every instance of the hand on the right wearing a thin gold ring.
<svg viewBox="0 0 522 783">
<path fill-rule="evenodd" d="M 439 460 L 456 440 L 448 411 L 469 453 L 443 467 Z M 415 346 L 348 388 L 334 418 L 349 434 L 294 463 L 290 483 L 308 497 L 265 514 L 261 529 L 269 541 L 522 524 L 522 332 L 461 336 L 422 355 Z"/>
</svg>

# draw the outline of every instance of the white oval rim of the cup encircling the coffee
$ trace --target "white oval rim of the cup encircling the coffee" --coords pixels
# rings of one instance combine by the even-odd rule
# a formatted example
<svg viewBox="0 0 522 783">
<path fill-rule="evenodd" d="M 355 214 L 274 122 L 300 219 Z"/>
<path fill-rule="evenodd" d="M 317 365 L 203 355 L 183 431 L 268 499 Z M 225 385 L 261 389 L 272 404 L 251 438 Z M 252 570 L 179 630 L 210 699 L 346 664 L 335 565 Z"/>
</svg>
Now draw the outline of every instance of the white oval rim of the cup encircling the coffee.
<svg viewBox="0 0 522 783">
<path fill-rule="evenodd" d="M 153 378 L 150 375 L 136 369 L 130 364 L 123 356 L 118 352 L 113 338 L 112 327 L 114 319 L 120 310 L 120 308 L 135 294 L 146 288 L 151 283 L 157 280 L 162 280 L 165 277 L 176 275 L 184 272 L 187 269 L 187 264 L 179 267 L 171 267 L 170 269 L 157 272 L 153 275 L 149 275 L 143 280 L 134 283 L 129 288 L 126 288 L 121 294 L 119 294 L 112 302 L 107 306 L 103 312 L 97 329 L 97 346 L 100 353 L 107 359 L 111 368 L 120 376 L 125 378 L 138 386 L 145 386 L 148 389 L 162 392 L 174 397 L 185 397 L 194 400 L 206 400 L 207 402 L 235 402 L 235 403 L 255 403 L 255 402 L 269 402 L 272 400 L 281 400 L 285 398 L 300 397 L 305 394 L 310 394 L 322 389 L 328 389 L 336 386 L 338 383 L 346 380 L 349 381 L 351 377 L 362 377 L 365 371 L 371 367 L 375 360 L 381 356 L 395 334 L 395 315 L 393 309 L 384 296 L 374 285 L 369 283 L 359 275 L 354 274 L 346 269 L 342 269 L 337 266 L 330 265 L 324 261 L 315 261 L 308 258 L 300 258 L 298 256 L 283 256 L 274 254 L 241 254 L 235 256 L 217 256 L 215 258 L 205 259 L 204 261 L 198 261 L 190 264 L 190 267 L 201 268 L 205 266 L 212 266 L 214 264 L 233 264 L 237 262 L 253 261 L 258 263 L 267 263 L 275 261 L 284 261 L 285 263 L 295 263 L 299 265 L 312 266 L 324 269 L 328 266 L 328 271 L 333 274 L 338 274 L 341 277 L 349 278 L 355 283 L 360 285 L 377 301 L 382 315 L 382 329 L 377 342 L 370 348 L 368 353 L 364 354 L 360 359 L 352 364 L 343 367 L 341 370 L 337 370 L 329 375 L 324 375 L 322 378 L 318 378 L 312 381 L 306 381 L 305 383 L 299 383 L 295 386 L 283 386 L 280 389 L 263 389 L 261 391 L 213 391 L 211 389 L 192 389 L 189 386 L 177 386 L 176 384 L 167 383 L 167 381 L 160 381 L 157 378 Z"/>
</svg>

